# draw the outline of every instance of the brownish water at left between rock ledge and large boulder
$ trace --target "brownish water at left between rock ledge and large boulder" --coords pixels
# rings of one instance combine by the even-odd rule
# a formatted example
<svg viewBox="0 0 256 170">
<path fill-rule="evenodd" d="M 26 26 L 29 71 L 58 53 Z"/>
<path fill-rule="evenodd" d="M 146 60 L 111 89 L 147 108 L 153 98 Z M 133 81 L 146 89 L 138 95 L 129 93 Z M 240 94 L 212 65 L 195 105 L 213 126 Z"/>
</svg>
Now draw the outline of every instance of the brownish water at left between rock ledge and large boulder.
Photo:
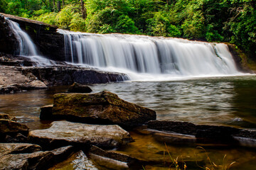
<svg viewBox="0 0 256 170">
<path fill-rule="evenodd" d="M 65 87 L 48 90 L 26 91 L 0 95 L 0 113 L 15 116 L 31 130 L 48 128 L 48 122 L 39 119 L 40 108 L 53 103 L 53 94 L 65 91 Z"/>
</svg>

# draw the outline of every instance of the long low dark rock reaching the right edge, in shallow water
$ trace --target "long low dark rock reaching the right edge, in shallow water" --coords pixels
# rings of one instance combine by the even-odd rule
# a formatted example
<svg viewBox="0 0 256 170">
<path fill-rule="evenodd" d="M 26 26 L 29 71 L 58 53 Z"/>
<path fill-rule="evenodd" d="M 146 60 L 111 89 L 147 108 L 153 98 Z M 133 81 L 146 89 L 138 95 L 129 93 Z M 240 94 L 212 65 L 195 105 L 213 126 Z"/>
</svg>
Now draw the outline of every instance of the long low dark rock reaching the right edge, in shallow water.
<svg viewBox="0 0 256 170">
<path fill-rule="evenodd" d="M 164 132 L 171 132 L 183 135 L 193 135 L 196 142 L 221 142 L 230 143 L 233 145 L 244 145 L 248 147 L 256 146 L 256 131 L 242 130 L 227 126 L 217 125 L 195 125 L 186 122 L 173 122 L 154 120 L 147 123 L 147 128 L 153 130 L 160 130 Z M 161 137 L 164 135 L 161 135 Z M 161 137 L 157 137 L 160 139 Z M 171 142 L 168 138 L 168 141 Z M 191 138 L 192 139 L 192 138 Z M 193 142 L 193 139 L 191 140 Z"/>
</svg>

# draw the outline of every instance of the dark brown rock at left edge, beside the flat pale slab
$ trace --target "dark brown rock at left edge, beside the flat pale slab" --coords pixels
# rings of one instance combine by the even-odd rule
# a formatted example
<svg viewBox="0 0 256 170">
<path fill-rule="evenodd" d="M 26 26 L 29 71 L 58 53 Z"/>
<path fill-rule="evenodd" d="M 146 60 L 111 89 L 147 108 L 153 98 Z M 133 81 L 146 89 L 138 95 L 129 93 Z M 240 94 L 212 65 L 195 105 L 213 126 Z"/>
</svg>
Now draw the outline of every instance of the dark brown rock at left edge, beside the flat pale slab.
<svg viewBox="0 0 256 170">
<path fill-rule="evenodd" d="M 18 133 L 27 135 L 28 127 L 12 120 L 0 119 L 0 135 L 2 137 L 5 135 L 16 135 Z"/>
</svg>

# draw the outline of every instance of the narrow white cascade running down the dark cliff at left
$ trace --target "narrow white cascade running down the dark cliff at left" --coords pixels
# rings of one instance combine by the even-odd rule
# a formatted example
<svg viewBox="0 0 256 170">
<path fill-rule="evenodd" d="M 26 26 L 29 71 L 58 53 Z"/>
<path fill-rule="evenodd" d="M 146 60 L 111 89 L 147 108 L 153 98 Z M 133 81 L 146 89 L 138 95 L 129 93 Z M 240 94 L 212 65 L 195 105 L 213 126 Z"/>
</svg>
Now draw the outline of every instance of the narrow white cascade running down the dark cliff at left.
<svg viewBox="0 0 256 170">
<path fill-rule="evenodd" d="M 18 40 L 18 50 L 15 55 L 20 55 L 23 57 L 29 57 L 33 62 L 36 62 L 39 66 L 52 65 L 55 62 L 46 59 L 45 57 L 41 57 L 38 55 L 38 51 L 36 50 L 36 45 L 33 43 L 29 35 L 21 30 L 18 23 L 5 18 L 8 22 L 9 27 L 13 31 L 16 39 Z"/>
</svg>

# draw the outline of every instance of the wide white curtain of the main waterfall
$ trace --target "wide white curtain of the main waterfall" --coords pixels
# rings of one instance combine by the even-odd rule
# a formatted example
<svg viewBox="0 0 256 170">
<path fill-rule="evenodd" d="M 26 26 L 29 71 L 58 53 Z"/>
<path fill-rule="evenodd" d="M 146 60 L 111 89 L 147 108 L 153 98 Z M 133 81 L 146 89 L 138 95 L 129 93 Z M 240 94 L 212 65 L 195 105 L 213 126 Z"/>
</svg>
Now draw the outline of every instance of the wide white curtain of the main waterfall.
<svg viewBox="0 0 256 170">
<path fill-rule="evenodd" d="M 58 32 L 65 37 L 65 52 L 73 63 L 165 77 L 239 74 L 225 44 L 144 35 Z"/>
</svg>

